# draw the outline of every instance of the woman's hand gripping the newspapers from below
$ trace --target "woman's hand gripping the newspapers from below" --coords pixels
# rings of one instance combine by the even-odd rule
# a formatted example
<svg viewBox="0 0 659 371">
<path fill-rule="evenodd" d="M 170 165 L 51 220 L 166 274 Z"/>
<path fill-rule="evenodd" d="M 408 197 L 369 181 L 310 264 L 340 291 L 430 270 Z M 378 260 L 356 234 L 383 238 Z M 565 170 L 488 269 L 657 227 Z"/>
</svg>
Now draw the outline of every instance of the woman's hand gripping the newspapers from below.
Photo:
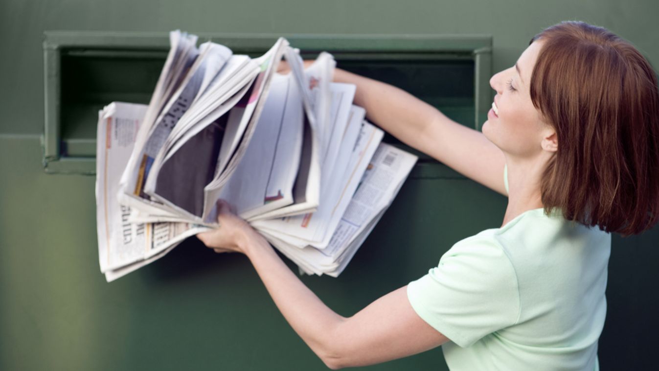
<svg viewBox="0 0 659 371">
<path fill-rule="evenodd" d="M 246 253 L 247 240 L 256 233 L 251 225 L 231 211 L 231 206 L 224 200 L 217 201 L 217 223 L 219 228 L 202 232 L 197 238 L 215 252 Z"/>
</svg>

